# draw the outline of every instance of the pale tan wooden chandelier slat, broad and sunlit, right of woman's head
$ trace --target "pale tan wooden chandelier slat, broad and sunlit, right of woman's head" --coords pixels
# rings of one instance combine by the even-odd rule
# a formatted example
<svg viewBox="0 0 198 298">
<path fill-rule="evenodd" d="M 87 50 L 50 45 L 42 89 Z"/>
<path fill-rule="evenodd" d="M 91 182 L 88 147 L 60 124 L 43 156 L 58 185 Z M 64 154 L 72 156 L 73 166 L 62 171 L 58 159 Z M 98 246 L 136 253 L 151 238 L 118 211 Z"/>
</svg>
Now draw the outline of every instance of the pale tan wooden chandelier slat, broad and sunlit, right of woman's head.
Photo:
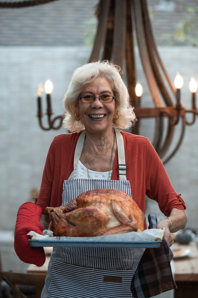
<svg viewBox="0 0 198 298">
<path fill-rule="evenodd" d="M 162 107 L 161 98 L 158 91 L 158 86 L 156 83 L 155 76 L 153 74 L 153 69 L 151 62 L 149 60 L 147 44 L 145 41 L 145 32 L 142 19 L 142 9 L 139 0 L 134 0 L 134 13 L 135 13 L 135 23 L 136 23 L 136 35 L 137 42 L 139 46 L 140 58 L 142 61 L 142 66 L 144 69 L 145 77 L 148 83 L 148 87 L 153 98 L 153 102 L 156 107 Z"/>
</svg>

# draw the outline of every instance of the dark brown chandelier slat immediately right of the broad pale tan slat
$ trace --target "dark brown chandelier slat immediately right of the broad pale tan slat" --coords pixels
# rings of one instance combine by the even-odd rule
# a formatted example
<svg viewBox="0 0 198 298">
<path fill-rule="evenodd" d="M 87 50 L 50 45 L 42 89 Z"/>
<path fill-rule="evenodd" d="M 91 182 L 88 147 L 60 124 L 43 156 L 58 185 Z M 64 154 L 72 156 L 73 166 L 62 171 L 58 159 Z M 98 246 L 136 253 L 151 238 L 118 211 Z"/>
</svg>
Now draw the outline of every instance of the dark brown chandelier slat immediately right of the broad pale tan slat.
<svg viewBox="0 0 198 298">
<path fill-rule="evenodd" d="M 153 74 L 155 76 L 157 85 L 159 87 L 162 97 L 164 98 L 166 105 L 172 106 L 172 100 L 170 98 L 170 94 L 162 78 L 162 69 L 159 64 L 158 57 L 156 55 L 158 51 L 156 49 L 154 38 L 152 38 L 153 32 L 152 32 L 151 22 L 148 15 L 148 8 L 145 3 L 145 0 L 142 0 L 142 15 L 143 15 L 143 24 L 144 24 L 144 31 L 145 31 L 145 41 L 147 43 L 148 55 L 151 61 Z M 175 96 L 175 91 L 173 96 Z"/>
</svg>

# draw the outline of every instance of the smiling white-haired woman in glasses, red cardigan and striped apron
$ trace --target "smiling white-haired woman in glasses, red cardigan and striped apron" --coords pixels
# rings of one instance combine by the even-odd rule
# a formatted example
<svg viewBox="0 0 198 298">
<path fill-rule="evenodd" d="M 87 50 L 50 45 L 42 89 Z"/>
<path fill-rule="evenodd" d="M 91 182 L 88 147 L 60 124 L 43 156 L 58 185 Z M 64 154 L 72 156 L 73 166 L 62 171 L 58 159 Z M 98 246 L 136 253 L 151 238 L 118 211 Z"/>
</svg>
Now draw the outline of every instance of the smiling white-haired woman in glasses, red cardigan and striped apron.
<svg viewBox="0 0 198 298">
<path fill-rule="evenodd" d="M 132 196 L 144 213 L 145 195 L 156 200 L 168 216 L 157 227 L 165 228 L 164 237 L 171 246 L 170 233 L 185 227 L 186 206 L 148 139 L 122 131 L 134 125 L 136 118 L 120 69 L 107 61 L 77 68 L 64 105 L 64 126 L 73 132 L 56 136 L 50 145 L 33 211 L 41 224 L 30 224 L 29 229 L 37 226 L 42 231 L 48 227 L 47 206 L 65 205 L 87 190 L 109 188 Z M 22 258 L 20 248 L 27 246 L 28 236 L 24 233 L 26 238 L 18 244 L 17 228 L 15 250 Z M 54 248 L 41 297 L 132 297 L 130 283 L 143 251 Z M 43 251 L 34 248 L 34 254 L 41 266 Z M 32 251 L 26 261 L 31 255 Z M 119 276 L 122 283 L 104 282 L 104 276 Z"/>
</svg>

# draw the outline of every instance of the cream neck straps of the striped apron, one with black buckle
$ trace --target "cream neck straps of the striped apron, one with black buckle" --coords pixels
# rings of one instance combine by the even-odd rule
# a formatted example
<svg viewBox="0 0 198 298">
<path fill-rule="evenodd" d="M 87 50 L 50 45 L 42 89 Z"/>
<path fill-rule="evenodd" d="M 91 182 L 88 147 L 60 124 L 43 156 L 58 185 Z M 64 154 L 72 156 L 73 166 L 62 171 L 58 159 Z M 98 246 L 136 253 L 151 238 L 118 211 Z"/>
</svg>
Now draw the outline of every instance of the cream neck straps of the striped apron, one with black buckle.
<svg viewBox="0 0 198 298">
<path fill-rule="evenodd" d="M 126 180 L 126 164 L 125 164 L 125 151 L 124 151 L 124 140 L 121 133 L 115 129 L 115 135 L 117 140 L 117 148 L 118 148 L 118 176 L 119 180 Z M 80 159 L 80 155 L 83 150 L 83 143 L 85 140 L 85 130 L 82 132 L 82 134 L 79 136 L 75 153 L 74 153 L 74 169 L 77 166 L 77 163 Z M 69 179 L 74 178 L 74 172 L 71 173 L 69 176 Z"/>
</svg>

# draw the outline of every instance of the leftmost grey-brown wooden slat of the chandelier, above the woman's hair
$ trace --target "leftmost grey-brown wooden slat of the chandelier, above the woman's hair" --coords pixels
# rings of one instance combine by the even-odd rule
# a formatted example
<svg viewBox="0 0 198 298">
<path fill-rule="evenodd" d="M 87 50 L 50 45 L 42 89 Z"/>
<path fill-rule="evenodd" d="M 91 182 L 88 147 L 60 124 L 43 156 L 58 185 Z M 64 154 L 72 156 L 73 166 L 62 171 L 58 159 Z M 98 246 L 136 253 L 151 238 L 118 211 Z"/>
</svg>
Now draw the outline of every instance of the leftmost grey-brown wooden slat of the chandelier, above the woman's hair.
<svg viewBox="0 0 198 298">
<path fill-rule="evenodd" d="M 89 62 L 92 60 L 99 60 L 100 49 L 104 45 L 107 28 L 107 17 L 110 8 L 110 0 L 101 0 L 99 2 L 99 21 L 96 38 L 94 42 L 94 48 L 91 53 Z"/>
</svg>

